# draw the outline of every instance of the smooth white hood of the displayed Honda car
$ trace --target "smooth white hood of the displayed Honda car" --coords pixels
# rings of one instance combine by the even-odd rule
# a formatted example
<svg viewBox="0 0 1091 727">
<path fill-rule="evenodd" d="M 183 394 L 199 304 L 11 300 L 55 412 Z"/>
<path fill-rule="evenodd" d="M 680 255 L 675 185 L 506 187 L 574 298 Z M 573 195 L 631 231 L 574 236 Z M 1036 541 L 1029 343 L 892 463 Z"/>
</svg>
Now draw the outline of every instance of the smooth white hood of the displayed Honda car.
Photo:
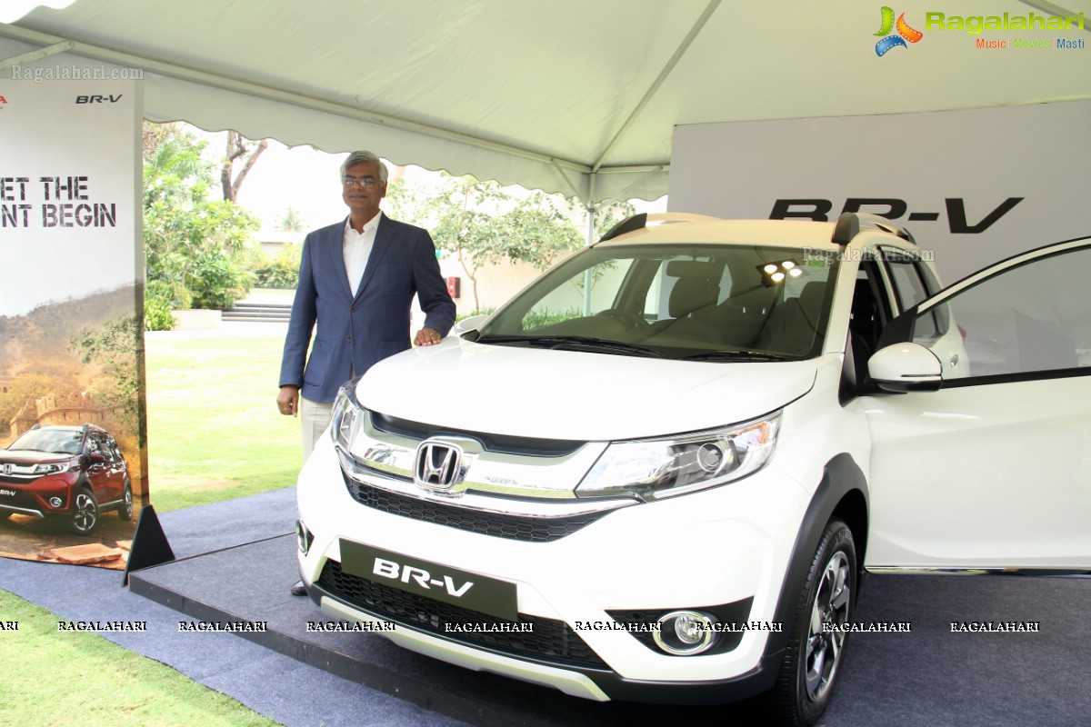
<svg viewBox="0 0 1091 727">
<path fill-rule="evenodd" d="M 357 400 L 444 429 L 613 440 L 762 416 L 806 393 L 815 371 L 810 361 L 669 361 L 449 337 L 375 364 Z"/>
</svg>

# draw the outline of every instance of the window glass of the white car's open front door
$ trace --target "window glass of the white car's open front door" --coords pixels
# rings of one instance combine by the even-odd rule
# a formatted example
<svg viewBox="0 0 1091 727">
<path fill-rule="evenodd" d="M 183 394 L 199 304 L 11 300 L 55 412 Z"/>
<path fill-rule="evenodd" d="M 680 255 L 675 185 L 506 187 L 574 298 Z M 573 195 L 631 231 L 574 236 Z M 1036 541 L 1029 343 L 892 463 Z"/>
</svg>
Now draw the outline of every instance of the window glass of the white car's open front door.
<svg viewBox="0 0 1091 727">
<path fill-rule="evenodd" d="M 1089 278 L 1091 247 L 1005 269 L 918 316 L 912 340 L 939 355 L 945 375 L 963 355 L 955 349 L 970 377 L 1091 367 Z M 936 335 L 933 312 L 954 324 L 946 335 Z"/>
</svg>

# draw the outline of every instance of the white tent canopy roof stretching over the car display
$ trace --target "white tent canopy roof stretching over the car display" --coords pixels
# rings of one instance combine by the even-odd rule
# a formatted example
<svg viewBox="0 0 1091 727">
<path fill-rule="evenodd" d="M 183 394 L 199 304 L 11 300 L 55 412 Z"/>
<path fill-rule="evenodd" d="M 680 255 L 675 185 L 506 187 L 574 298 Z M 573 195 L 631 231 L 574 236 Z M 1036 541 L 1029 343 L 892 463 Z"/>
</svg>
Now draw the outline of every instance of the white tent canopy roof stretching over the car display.
<svg viewBox="0 0 1091 727">
<path fill-rule="evenodd" d="M 1091 29 L 1091 0 L 935 4 L 1082 12 Z M 906 10 L 922 40 L 879 57 L 880 5 L 862 0 L 75 0 L 0 24 L 0 69 L 140 68 L 154 121 L 370 148 L 585 202 L 666 194 L 678 124 L 1091 98 L 1091 48 L 981 49 L 998 35 L 928 29 L 925 10 Z M 1027 131 L 1012 143 L 1034 143 Z M 876 167 L 898 153 L 847 149 Z"/>
</svg>

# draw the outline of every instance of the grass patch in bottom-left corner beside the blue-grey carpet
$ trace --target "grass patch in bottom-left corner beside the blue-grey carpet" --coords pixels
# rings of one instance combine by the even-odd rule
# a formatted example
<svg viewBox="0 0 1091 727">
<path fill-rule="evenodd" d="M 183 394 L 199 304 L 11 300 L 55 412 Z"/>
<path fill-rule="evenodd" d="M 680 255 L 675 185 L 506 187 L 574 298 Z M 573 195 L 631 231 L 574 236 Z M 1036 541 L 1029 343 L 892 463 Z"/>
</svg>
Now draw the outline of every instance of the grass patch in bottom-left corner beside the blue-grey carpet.
<svg viewBox="0 0 1091 727">
<path fill-rule="evenodd" d="M 244 727 L 279 723 L 154 659 L 87 632 L 0 590 L 0 725 L 26 727 Z"/>
</svg>

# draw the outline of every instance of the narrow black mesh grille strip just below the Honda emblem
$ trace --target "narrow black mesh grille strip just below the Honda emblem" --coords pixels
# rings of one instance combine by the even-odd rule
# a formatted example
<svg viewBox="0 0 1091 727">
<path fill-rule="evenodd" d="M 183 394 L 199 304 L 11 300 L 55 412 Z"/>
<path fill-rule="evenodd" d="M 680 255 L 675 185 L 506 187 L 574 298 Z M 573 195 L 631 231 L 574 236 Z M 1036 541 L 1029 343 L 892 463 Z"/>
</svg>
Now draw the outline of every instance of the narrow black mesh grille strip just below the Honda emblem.
<svg viewBox="0 0 1091 727">
<path fill-rule="evenodd" d="M 356 482 L 347 475 L 345 475 L 345 485 L 357 502 L 383 512 L 436 525 L 456 528 L 479 535 L 492 535 L 493 537 L 529 543 L 549 543 L 560 540 L 585 525 L 589 525 L 608 512 L 588 512 L 566 518 L 529 518 L 483 512 L 443 502 L 421 500 Z"/>
</svg>

